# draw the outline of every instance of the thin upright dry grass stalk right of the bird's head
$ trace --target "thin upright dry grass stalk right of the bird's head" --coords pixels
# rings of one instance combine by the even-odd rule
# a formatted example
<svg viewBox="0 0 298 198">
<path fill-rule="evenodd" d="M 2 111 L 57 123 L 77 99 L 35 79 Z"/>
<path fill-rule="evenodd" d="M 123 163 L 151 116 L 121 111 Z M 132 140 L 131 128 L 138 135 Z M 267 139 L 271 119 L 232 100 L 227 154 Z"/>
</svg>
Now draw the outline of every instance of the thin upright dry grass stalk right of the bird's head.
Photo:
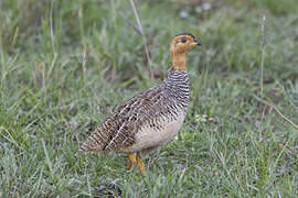
<svg viewBox="0 0 298 198">
<path fill-rule="evenodd" d="M 259 89 L 260 89 L 260 96 L 263 96 L 263 78 L 264 78 L 264 62 L 265 62 L 265 47 L 266 47 L 266 34 L 265 34 L 265 22 L 266 22 L 266 15 L 263 15 L 262 20 L 262 43 L 260 43 L 260 50 L 262 50 L 262 59 L 260 59 L 260 69 L 259 69 Z"/>
</svg>

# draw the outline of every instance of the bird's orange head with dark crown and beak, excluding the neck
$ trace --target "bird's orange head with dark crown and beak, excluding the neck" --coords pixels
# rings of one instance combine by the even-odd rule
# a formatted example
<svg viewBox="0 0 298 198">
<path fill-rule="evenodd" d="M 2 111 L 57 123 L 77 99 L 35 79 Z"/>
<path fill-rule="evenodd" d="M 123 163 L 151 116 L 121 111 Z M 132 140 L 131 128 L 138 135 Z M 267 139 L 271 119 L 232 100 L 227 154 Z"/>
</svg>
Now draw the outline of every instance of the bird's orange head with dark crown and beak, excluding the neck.
<svg viewBox="0 0 298 198">
<path fill-rule="evenodd" d="M 187 54 L 201 42 L 194 38 L 190 33 L 181 33 L 175 35 L 171 42 L 171 55 Z"/>
</svg>

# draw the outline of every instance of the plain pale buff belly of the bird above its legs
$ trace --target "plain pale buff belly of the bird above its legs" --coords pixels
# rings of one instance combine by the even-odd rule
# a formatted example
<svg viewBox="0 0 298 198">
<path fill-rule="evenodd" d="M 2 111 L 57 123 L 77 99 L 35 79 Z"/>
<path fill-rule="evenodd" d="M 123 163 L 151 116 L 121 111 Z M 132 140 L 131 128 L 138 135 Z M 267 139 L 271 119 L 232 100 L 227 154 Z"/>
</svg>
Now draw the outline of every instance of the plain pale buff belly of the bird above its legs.
<svg viewBox="0 0 298 198">
<path fill-rule="evenodd" d="M 148 147 L 155 147 L 162 145 L 173 139 L 179 129 L 181 128 L 185 113 L 179 113 L 178 118 L 172 121 L 162 121 L 160 119 L 159 125 L 162 125 L 160 129 L 150 127 L 146 124 L 136 133 L 136 144 L 126 150 L 126 152 L 137 152 Z"/>
</svg>

